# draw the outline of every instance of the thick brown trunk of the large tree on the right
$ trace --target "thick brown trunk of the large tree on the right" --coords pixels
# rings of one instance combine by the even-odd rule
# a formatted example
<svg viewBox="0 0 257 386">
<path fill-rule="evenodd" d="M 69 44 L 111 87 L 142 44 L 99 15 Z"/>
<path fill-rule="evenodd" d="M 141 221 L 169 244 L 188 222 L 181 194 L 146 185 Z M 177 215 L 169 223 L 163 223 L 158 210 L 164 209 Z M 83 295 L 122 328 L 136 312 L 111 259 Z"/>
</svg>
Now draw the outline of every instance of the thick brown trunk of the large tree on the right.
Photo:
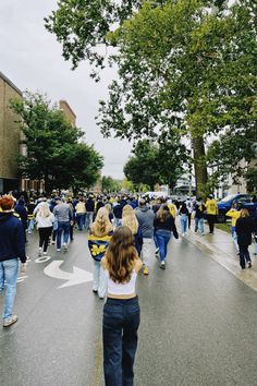
<svg viewBox="0 0 257 386">
<path fill-rule="evenodd" d="M 205 160 L 205 143 L 203 136 L 192 138 L 192 146 L 194 152 L 194 166 L 195 166 L 195 183 L 196 196 L 206 197 L 209 193 L 207 190 L 208 173 Z"/>
</svg>

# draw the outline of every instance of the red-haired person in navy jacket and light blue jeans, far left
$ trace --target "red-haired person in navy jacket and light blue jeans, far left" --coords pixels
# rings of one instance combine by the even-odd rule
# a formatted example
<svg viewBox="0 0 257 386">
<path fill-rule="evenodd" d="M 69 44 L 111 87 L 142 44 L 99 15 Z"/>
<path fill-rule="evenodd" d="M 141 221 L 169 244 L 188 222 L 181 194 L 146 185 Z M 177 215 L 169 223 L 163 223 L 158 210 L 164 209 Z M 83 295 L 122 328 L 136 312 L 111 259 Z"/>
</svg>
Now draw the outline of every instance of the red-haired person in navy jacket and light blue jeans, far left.
<svg viewBox="0 0 257 386">
<path fill-rule="evenodd" d="M 26 252 L 24 229 L 20 218 L 14 216 L 14 200 L 10 195 L 0 197 L 0 293 L 3 299 L 3 327 L 17 322 L 13 305 L 16 293 L 19 258 L 22 262 L 21 272 L 26 270 Z"/>
</svg>

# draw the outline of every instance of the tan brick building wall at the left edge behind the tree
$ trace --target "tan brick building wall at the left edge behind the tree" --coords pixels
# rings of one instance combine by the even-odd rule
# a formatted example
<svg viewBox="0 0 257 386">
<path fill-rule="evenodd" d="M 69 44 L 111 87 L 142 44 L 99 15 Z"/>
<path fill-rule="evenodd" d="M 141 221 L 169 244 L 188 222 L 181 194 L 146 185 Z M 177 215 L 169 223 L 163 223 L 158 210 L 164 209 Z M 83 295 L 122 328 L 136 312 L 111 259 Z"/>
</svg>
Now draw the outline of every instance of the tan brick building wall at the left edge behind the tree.
<svg viewBox="0 0 257 386">
<path fill-rule="evenodd" d="M 19 189 L 20 128 L 10 109 L 13 98 L 22 98 L 22 92 L 0 72 L 0 192 Z"/>
</svg>

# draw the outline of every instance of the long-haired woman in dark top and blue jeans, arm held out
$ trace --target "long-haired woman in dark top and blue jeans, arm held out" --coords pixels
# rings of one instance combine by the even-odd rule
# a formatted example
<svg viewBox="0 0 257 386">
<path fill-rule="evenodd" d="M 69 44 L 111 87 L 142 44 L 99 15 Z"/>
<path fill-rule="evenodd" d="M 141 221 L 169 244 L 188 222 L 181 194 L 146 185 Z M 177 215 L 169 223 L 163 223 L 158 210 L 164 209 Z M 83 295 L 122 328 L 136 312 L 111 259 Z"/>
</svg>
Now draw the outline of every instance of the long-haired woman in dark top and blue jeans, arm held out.
<svg viewBox="0 0 257 386">
<path fill-rule="evenodd" d="M 166 269 L 166 256 L 167 248 L 171 236 L 174 234 L 175 239 L 179 239 L 179 233 L 176 231 L 175 221 L 173 216 L 170 214 L 168 205 L 162 205 L 156 214 L 154 221 L 155 237 L 159 248 L 160 256 L 160 268 Z"/>
</svg>

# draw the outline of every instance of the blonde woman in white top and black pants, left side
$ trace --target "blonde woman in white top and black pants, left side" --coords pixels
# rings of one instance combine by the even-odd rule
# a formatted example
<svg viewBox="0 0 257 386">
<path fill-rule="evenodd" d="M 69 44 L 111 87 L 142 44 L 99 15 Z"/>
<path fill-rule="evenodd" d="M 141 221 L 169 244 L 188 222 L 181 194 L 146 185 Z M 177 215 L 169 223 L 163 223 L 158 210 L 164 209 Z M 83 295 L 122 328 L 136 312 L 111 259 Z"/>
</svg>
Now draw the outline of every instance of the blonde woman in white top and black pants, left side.
<svg viewBox="0 0 257 386">
<path fill-rule="evenodd" d="M 38 255 L 41 256 L 47 254 L 49 238 L 52 232 L 52 225 L 54 222 L 54 216 L 50 212 L 49 205 L 42 203 L 37 212 L 36 216 L 37 228 L 39 232 L 39 251 Z"/>
</svg>

